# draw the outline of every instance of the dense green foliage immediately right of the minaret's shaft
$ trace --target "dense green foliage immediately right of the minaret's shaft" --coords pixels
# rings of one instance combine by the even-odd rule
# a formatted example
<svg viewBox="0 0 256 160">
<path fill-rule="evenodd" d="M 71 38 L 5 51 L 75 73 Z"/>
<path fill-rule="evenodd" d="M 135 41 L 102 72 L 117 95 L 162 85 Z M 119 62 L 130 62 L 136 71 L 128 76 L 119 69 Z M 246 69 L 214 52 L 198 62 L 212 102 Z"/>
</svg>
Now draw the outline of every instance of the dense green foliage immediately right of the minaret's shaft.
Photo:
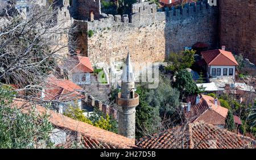
<svg viewBox="0 0 256 160">
<path fill-rule="evenodd" d="M 155 133 L 162 120 L 179 121 L 179 91 L 171 87 L 169 79 L 160 75 L 158 88 L 147 89 L 146 85 L 140 85 L 136 92 L 140 96 L 136 112 L 137 138 Z"/>
</svg>

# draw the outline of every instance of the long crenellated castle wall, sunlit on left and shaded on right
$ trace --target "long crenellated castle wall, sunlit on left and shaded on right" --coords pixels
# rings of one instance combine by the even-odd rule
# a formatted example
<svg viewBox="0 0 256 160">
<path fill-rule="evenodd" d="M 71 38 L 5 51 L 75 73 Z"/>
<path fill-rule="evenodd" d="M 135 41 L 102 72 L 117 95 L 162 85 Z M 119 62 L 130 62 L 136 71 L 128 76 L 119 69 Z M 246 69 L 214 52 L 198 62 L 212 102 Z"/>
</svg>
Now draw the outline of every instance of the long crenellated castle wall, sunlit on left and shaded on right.
<svg viewBox="0 0 256 160">
<path fill-rule="evenodd" d="M 93 22 L 79 21 L 82 32 L 93 31 L 92 37 L 79 40 L 79 48 L 92 64 L 122 60 L 128 49 L 136 63 L 163 61 L 171 51 L 179 52 L 199 41 L 217 46 L 218 7 L 207 1 L 158 11 L 155 4 L 135 3 L 131 15 L 102 16 Z"/>
</svg>

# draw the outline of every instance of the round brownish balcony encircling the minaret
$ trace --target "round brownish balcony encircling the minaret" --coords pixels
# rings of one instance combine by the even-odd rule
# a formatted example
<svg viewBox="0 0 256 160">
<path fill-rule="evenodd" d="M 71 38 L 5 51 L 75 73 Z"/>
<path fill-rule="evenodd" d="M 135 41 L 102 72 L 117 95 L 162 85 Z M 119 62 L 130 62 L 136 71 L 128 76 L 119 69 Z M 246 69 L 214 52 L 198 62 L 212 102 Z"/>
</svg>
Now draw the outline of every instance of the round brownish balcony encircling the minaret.
<svg viewBox="0 0 256 160">
<path fill-rule="evenodd" d="M 134 98 L 124 99 L 121 98 L 121 92 L 117 95 L 117 105 L 122 107 L 136 107 L 139 105 L 139 95 L 134 93 Z"/>
</svg>

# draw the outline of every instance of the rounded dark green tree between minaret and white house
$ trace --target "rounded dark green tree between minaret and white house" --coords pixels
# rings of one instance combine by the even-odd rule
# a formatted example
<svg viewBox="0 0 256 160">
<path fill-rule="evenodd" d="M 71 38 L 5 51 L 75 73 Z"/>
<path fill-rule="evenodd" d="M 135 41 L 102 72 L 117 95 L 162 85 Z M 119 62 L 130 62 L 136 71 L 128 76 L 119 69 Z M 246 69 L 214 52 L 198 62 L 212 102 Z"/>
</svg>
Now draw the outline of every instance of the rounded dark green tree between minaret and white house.
<svg viewBox="0 0 256 160">
<path fill-rule="evenodd" d="M 174 87 L 180 91 L 180 98 L 185 96 L 196 94 L 198 88 L 193 81 L 192 74 L 189 71 L 183 69 L 176 74 L 176 81 Z"/>
</svg>

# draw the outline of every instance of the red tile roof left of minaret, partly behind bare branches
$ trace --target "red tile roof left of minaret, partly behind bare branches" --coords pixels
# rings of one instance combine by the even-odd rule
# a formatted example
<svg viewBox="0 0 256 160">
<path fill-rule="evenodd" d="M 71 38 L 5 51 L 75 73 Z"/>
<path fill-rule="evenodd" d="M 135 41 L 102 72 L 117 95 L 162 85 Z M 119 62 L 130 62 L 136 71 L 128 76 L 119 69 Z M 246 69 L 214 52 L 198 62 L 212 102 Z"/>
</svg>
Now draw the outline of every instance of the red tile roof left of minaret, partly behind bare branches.
<svg viewBox="0 0 256 160">
<path fill-rule="evenodd" d="M 83 98 L 78 91 L 82 90 L 82 88 L 67 79 L 49 77 L 45 88 L 44 100 L 73 100 Z"/>
</svg>

